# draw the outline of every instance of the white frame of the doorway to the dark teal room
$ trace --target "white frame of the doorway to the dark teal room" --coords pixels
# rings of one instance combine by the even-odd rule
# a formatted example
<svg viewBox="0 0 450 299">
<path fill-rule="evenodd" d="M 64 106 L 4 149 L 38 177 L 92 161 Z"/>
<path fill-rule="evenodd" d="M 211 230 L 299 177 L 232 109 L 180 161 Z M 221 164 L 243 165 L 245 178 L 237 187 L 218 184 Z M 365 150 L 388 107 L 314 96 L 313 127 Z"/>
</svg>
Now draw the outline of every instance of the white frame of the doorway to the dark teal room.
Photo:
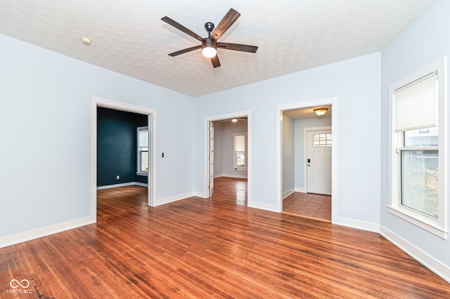
<svg viewBox="0 0 450 299">
<path fill-rule="evenodd" d="M 91 98 L 91 215 L 97 221 L 97 107 L 105 107 L 125 112 L 133 112 L 148 115 L 148 131 L 151 147 L 151 159 L 149 161 L 151 180 L 148 180 L 147 192 L 148 206 L 154 206 L 156 199 L 156 109 L 129 104 L 127 102 L 117 102 L 105 98 L 93 96 Z"/>
</svg>

